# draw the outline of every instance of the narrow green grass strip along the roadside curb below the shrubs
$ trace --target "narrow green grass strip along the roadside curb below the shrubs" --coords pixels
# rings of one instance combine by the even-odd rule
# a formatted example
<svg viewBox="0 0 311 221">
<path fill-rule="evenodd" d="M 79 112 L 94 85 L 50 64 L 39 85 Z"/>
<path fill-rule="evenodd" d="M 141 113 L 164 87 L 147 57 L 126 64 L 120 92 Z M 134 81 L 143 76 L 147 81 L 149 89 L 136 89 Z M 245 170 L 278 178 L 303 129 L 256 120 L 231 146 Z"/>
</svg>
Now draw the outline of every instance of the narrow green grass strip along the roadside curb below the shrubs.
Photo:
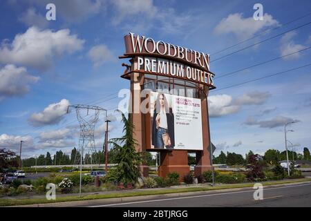
<svg viewBox="0 0 311 221">
<path fill-rule="evenodd" d="M 262 182 L 263 186 L 273 185 L 273 184 L 290 184 L 295 182 L 306 182 L 311 181 L 311 179 L 299 179 L 299 180 L 278 180 L 270 182 Z M 57 200 L 46 200 L 46 199 L 22 199 L 22 200 L 8 200 L 0 199 L 0 206 L 17 206 L 17 205 L 26 205 L 26 204 L 46 204 L 46 203 L 55 203 L 55 202 L 73 202 L 79 200 L 99 200 L 99 199 L 109 199 L 109 198 L 125 198 L 133 196 L 142 196 L 142 195 L 159 195 L 159 194 L 168 194 L 168 193 L 186 193 L 186 192 L 197 192 L 197 191 L 211 191 L 211 190 L 221 190 L 221 189 L 234 189 L 234 188 L 243 188 L 243 187 L 252 187 L 254 184 L 225 184 L 221 186 L 202 186 L 202 187 L 189 187 L 189 188 L 180 188 L 180 189 L 164 189 L 164 190 L 148 190 L 140 192 L 126 192 L 126 193 L 109 193 L 101 195 L 86 195 L 79 198 L 78 196 L 70 197 L 61 197 Z"/>
</svg>

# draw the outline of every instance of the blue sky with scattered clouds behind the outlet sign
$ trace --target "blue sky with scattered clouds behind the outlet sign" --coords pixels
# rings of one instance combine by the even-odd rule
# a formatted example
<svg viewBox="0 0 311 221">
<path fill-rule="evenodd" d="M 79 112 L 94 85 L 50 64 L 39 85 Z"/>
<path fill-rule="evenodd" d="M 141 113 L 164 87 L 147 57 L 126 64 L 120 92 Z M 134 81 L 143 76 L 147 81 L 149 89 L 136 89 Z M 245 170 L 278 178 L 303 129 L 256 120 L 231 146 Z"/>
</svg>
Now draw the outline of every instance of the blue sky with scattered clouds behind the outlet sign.
<svg viewBox="0 0 311 221">
<path fill-rule="evenodd" d="M 56 21 L 46 20 L 50 2 Z M 253 19 L 255 3 L 263 5 L 263 20 Z M 311 144 L 310 9 L 310 1 L 3 0 L 0 147 L 17 151 L 24 140 L 23 157 L 68 153 L 79 136 L 68 104 L 96 104 L 115 115 L 117 92 L 129 88 L 117 57 L 124 35 L 134 32 L 211 55 L 219 77 L 209 94 L 216 155 L 283 151 L 283 124 L 292 120 L 299 122 L 289 127 L 288 140 L 302 152 Z M 110 137 L 122 132 L 115 117 Z M 95 131 L 98 148 L 103 120 Z"/>
</svg>

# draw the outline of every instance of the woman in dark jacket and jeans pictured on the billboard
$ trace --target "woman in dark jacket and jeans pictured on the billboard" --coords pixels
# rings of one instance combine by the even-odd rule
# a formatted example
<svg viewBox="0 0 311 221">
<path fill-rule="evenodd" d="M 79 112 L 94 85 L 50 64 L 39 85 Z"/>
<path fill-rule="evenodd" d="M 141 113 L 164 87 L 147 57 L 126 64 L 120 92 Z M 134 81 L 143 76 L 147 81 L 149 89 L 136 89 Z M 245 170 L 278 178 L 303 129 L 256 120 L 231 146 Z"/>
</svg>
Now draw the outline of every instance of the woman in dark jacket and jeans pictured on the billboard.
<svg viewBox="0 0 311 221">
<path fill-rule="evenodd" d="M 153 111 L 152 145 L 154 148 L 173 148 L 174 115 L 164 93 L 158 93 Z"/>
</svg>

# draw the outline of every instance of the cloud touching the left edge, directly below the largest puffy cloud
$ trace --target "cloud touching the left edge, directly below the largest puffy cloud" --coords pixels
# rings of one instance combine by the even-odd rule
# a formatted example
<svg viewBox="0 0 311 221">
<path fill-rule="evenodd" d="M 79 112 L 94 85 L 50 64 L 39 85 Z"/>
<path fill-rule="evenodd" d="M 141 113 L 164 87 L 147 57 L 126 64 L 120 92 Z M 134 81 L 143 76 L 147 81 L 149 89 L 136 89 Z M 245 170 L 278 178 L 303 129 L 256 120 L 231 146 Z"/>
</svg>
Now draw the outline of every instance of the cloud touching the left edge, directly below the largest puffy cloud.
<svg viewBox="0 0 311 221">
<path fill-rule="evenodd" d="M 0 97 L 24 95 L 29 91 L 29 84 L 38 80 L 39 77 L 29 75 L 26 68 L 8 64 L 0 69 Z"/>
</svg>

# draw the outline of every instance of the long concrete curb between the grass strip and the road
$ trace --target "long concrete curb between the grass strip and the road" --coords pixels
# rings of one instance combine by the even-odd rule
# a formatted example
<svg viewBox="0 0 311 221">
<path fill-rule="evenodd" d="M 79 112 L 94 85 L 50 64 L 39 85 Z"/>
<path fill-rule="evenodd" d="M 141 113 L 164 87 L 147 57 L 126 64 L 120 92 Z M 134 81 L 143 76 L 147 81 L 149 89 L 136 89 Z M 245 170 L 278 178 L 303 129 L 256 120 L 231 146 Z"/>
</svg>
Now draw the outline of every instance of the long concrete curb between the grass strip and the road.
<svg viewBox="0 0 311 221">
<path fill-rule="evenodd" d="M 276 187 L 276 186 L 291 186 L 293 184 L 310 184 L 311 181 L 304 182 L 292 182 L 288 184 L 270 184 L 265 185 L 263 188 Z M 164 193 L 164 194 L 155 194 L 155 195 L 140 195 L 140 196 L 131 196 L 131 197 L 122 197 L 122 198 L 107 198 L 107 199 L 96 199 L 96 200 L 77 200 L 77 201 L 69 201 L 69 202 L 53 202 L 46 204 L 29 204 L 29 205 L 19 205 L 19 206 L 7 206 L 7 207 L 66 207 L 66 206 L 87 206 L 86 202 L 93 203 L 117 203 L 117 202 L 129 202 L 131 200 L 160 200 L 162 198 L 168 197 L 182 197 L 188 195 L 202 195 L 202 193 L 223 193 L 229 191 L 242 191 L 246 189 L 252 189 L 252 186 L 249 187 L 237 187 L 230 189 L 216 189 L 216 190 L 208 190 L 208 191 L 192 191 L 192 192 L 184 192 L 184 193 Z"/>
</svg>

